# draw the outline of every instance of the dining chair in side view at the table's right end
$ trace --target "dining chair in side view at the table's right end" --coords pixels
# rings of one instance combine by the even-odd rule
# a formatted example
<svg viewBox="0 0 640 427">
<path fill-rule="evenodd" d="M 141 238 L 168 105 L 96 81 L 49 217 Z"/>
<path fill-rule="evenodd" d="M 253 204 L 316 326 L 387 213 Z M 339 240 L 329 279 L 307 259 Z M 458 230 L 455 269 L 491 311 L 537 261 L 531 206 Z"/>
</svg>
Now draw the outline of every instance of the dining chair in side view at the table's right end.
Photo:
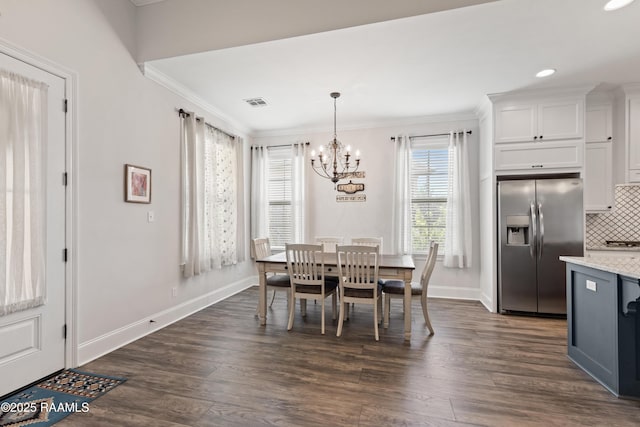
<svg viewBox="0 0 640 427">
<path fill-rule="evenodd" d="M 429 328 L 429 335 L 433 335 L 433 327 L 429 319 L 429 310 L 427 308 L 427 289 L 429 287 L 429 279 L 436 265 L 436 257 L 438 256 L 438 244 L 431 242 L 429 245 L 429 255 L 425 261 L 422 274 L 420 275 L 420 283 L 411 283 L 411 297 L 420 298 L 422 305 L 422 315 L 424 323 Z M 402 280 L 383 280 L 382 292 L 384 294 L 384 327 L 389 327 L 389 315 L 391 314 L 391 298 L 404 298 L 404 281 Z"/>
</svg>

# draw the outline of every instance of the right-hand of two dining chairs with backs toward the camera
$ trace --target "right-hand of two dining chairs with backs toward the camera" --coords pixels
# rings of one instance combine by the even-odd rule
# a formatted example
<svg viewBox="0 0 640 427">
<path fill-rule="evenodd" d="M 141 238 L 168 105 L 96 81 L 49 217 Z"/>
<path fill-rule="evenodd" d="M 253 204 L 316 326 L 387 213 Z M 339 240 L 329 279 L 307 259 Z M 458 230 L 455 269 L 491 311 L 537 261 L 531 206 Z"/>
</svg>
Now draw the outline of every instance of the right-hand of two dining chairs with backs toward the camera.
<svg viewBox="0 0 640 427">
<path fill-rule="evenodd" d="M 345 317 L 349 317 L 349 303 L 373 305 L 373 326 L 376 341 L 378 316 L 382 315 L 382 292 L 378 284 L 377 246 L 337 246 L 340 276 L 340 317 L 337 335 L 342 335 Z"/>
</svg>

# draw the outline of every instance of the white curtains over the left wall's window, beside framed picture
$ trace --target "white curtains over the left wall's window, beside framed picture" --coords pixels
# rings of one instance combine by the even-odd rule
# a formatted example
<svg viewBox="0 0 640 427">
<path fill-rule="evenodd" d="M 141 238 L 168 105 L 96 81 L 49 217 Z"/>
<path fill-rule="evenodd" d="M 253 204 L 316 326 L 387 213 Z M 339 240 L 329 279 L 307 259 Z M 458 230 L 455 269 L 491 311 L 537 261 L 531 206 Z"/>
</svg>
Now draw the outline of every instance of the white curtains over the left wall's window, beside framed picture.
<svg viewBox="0 0 640 427">
<path fill-rule="evenodd" d="M 234 138 L 182 119 L 182 266 L 191 277 L 237 263 L 237 153 Z"/>
</svg>

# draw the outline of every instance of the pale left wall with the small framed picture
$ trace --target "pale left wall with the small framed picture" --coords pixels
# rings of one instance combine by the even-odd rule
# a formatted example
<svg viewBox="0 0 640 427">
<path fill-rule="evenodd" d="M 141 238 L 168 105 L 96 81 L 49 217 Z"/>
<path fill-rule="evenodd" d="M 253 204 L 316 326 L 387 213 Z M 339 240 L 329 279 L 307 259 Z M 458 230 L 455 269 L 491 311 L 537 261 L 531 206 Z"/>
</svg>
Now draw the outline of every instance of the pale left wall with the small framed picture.
<svg viewBox="0 0 640 427">
<path fill-rule="evenodd" d="M 129 0 L 0 0 L 0 38 L 78 77 L 70 172 L 77 192 L 77 246 L 71 250 L 79 363 L 241 289 L 253 275 L 245 262 L 181 279 L 175 108 L 236 129 L 143 77 L 129 51 L 134 13 Z M 118 23 L 115 29 L 111 22 Z M 125 163 L 152 169 L 150 205 L 123 202 Z M 146 220 L 149 210 L 154 223 Z"/>
</svg>

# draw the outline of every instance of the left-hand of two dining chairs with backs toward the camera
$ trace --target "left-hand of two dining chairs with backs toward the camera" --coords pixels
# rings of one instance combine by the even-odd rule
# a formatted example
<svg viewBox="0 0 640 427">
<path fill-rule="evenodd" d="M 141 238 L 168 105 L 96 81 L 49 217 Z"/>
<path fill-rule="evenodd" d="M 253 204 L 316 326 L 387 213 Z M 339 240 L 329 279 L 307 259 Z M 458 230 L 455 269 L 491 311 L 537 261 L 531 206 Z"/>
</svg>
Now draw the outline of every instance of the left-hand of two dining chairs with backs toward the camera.
<svg viewBox="0 0 640 427">
<path fill-rule="evenodd" d="M 300 299 L 302 315 L 306 315 L 306 301 L 320 300 L 322 310 L 321 332 L 324 335 L 325 299 L 332 296 L 333 320 L 336 319 L 336 291 L 338 283 L 324 277 L 324 256 L 322 245 L 287 244 L 287 269 L 291 278 L 291 296 L 289 305 L 289 325 L 293 328 L 295 301 Z"/>
</svg>

